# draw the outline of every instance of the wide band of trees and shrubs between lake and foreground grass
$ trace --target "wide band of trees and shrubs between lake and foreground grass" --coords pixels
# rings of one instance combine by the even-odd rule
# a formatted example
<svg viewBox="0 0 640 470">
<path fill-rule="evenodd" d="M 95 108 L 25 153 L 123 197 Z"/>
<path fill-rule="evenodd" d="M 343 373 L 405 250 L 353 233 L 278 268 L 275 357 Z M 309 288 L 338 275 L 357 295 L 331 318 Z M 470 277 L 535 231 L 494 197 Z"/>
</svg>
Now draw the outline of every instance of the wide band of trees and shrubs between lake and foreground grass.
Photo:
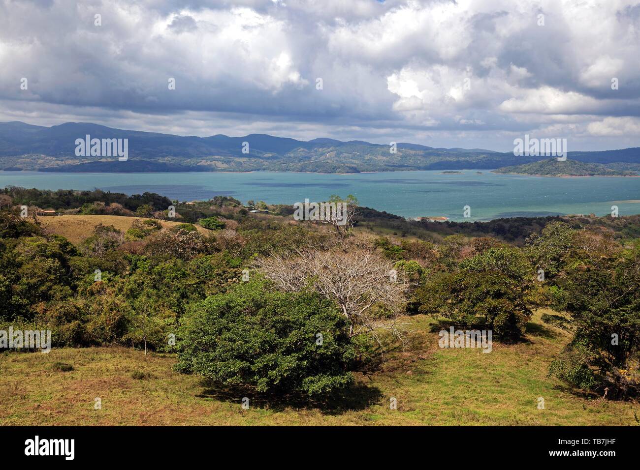
<svg viewBox="0 0 640 470">
<path fill-rule="evenodd" d="M 106 211 L 122 202 L 87 201 L 83 192 L 67 200 L 15 188 L 1 194 L 0 330 L 50 330 L 54 348 L 175 353 L 177 370 L 202 376 L 218 393 L 339 399 L 353 392 L 358 374 L 382 370 L 411 347 L 412 315 L 518 345 L 533 312 L 553 308 L 542 320 L 570 341 L 552 357 L 550 376 L 586 396 L 637 396 L 638 217 L 447 223 L 431 231 L 358 208 L 335 231 L 294 220 L 290 207 L 254 214 L 214 198 L 173 201 L 180 224 L 172 227 L 147 219 L 123 232 L 96 223 L 72 244 L 44 231 L 33 213 L 20 216 L 26 194 L 29 203 L 56 196 L 56 210 Z M 165 217 L 165 203 L 136 196 L 129 210 Z M 200 233 L 198 221 L 214 230 Z M 386 224 L 418 236 L 392 235 Z"/>
</svg>

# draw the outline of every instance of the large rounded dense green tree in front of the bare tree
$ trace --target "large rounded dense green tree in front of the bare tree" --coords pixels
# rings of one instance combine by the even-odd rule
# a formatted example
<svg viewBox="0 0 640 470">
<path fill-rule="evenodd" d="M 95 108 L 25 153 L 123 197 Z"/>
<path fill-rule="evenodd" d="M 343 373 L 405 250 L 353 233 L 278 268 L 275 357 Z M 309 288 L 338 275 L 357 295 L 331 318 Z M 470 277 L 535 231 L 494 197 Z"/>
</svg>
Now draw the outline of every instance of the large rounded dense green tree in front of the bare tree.
<svg viewBox="0 0 640 470">
<path fill-rule="evenodd" d="M 314 293 L 241 283 L 189 309 L 178 338 L 176 369 L 219 386 L 323 396 L 353 381 L 346 320 Z"/>
</svg>

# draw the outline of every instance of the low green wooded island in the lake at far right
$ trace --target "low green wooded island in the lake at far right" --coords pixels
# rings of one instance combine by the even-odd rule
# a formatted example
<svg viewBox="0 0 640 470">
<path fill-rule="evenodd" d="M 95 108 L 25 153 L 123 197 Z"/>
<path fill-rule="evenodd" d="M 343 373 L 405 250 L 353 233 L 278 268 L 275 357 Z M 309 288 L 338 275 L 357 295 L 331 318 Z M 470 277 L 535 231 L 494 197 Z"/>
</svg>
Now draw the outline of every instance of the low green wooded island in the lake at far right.
<svg viewBox="0 0 640 470">
<path fill-rule="evenodd" d="M 557 161 L 557 158 L 541 160 L 523 165 L 504 166 L 492 173 L 531 176 L 639 176 L 634 171 L 607 168 L 600 163 L 584 163 L 577 160 Z"/>
</svg>

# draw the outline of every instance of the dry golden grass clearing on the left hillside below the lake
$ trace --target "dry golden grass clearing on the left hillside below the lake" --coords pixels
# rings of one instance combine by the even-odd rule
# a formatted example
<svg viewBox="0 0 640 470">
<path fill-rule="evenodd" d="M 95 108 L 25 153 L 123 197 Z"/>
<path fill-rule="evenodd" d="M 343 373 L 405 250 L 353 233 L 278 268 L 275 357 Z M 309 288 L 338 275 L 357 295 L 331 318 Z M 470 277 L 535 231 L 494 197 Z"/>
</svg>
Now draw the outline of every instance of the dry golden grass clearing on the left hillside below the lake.
<svg viewBox="0 0 640 470">
<path fill-rule="evenodd" d="M 145 217 L 124 217 L 122 215 L 56 215 L 56 217 L 42 216 L 38 221 L 42 223 L 45 231 L 62 235 L 72 243 L 79 243 L 93 234 L 93 228 L 97 224 L 113 225 L 122 233 L 131 228 L 136 220 L 144 221 Z M 181 222 L 159 221 L 163 228 L 171 228 Z M 211 233 L 204 227 L 196 225 L 200 233 Z"/>
</svg>

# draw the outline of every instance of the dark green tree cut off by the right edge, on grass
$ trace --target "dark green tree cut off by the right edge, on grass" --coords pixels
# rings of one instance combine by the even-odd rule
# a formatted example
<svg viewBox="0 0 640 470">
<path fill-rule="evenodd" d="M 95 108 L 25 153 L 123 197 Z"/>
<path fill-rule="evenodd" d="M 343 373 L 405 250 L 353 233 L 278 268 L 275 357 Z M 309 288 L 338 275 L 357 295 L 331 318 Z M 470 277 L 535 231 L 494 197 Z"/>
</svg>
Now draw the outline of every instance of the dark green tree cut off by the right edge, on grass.
<svg viewBox="0 0 640 470">
<path fill-rule="evenodd" d="M 577 246 L 582 259 L 552 290 L 552 307 L 571 315 L 565 327 L 573 339 L 549 373 L 608 398 L 635 396 L 640 391 L 640 243 L 615 252 L 609 244 L 596 253 L 591 237 L 582 240 Z"/>
</svg>

